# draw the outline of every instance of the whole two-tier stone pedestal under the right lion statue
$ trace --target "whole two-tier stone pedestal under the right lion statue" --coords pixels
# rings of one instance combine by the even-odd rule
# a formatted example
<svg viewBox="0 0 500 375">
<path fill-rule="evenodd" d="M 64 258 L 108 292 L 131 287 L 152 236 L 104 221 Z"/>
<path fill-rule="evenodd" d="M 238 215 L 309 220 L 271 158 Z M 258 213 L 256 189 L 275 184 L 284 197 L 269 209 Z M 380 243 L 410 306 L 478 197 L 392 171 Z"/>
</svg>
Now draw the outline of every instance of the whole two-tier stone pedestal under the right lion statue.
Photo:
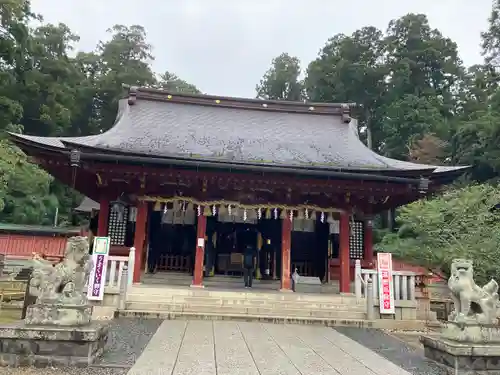
<svg viewBox="0 0 500 375">
<path fill-rule="evenodd" d="M 500 327 L 448 322 L 439 338 L 422 336 L 425 356 L 450 374 L 500 375 Z"/>
</svg>

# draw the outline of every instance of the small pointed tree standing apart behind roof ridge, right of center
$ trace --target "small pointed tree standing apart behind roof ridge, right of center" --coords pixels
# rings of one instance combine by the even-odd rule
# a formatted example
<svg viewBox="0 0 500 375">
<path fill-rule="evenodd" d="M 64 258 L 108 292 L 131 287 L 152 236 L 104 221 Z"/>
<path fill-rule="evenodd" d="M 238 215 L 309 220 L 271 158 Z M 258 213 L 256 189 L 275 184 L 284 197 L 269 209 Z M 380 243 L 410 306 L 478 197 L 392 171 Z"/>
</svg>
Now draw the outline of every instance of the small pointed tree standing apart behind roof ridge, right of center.
<svg viewBox="0 0 500 375">
<path fill-rule="evenodd" d="M 267 100 L 292 100 L 304 98 L 304 86 L 300 81 L 300 61 L 297 57 L 282 53 L 271 62 L 271 68 L 256 86 L 257 98 Z"/>
</svg>

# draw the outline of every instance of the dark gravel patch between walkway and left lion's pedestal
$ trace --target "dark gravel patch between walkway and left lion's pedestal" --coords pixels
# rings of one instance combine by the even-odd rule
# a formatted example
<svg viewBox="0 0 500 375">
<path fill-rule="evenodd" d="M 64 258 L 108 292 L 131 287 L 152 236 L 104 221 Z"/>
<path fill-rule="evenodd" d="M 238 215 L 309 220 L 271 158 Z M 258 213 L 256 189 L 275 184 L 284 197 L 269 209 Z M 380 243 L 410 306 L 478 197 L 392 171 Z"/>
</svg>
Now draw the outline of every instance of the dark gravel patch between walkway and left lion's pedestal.
<svg viewBox="0 0 500 375">
<path fill-rule="evenodd" d="M 118 318 L 112 320 L 106 351 L 95 366 L 130 368 L 162 322 L 161 319 Z M 103 372 L 103 374 L 106 373 Z"/>
</svg>

